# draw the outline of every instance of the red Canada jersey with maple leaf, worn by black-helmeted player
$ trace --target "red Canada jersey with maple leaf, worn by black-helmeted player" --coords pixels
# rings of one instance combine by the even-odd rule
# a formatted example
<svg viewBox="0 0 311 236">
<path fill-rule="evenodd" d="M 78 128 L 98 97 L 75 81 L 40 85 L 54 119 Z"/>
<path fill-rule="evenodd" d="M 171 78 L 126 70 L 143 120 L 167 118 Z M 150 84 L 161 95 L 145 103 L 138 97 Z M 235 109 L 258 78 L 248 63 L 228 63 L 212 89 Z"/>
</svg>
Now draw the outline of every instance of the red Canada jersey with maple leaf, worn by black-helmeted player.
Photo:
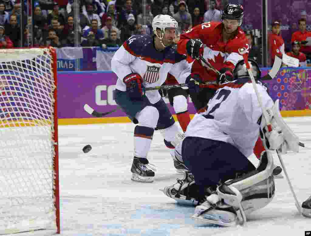
<svg viewBox="0 0 311 236">
<path fill-rule="evenodd" d="M 210 21 L 197 25 L 180 36 L 177 51 L 179 54 L 187 54 L 188 40 L 200 39 L 204 44 L 204 59 L 217 70 L 229 68 L 233 71 L 237 62 L 243 59 L 242 54 L 249 53 L 248 41 L 244 31 L 238 27 L 234 38 L 225 43 L 222 29 L 223 24 L 221 22 Z M 193 62 L 190 56 L 187 57 L 187 60 L 189 63 Z M 215 81 L 217 79 L 216 73 L 199 60 L 194 60 L 191 73 L 200 75 L 203 81 Z M 210 85 L 209 87 L 217 89 L 219 86 Z"/>
</svg>

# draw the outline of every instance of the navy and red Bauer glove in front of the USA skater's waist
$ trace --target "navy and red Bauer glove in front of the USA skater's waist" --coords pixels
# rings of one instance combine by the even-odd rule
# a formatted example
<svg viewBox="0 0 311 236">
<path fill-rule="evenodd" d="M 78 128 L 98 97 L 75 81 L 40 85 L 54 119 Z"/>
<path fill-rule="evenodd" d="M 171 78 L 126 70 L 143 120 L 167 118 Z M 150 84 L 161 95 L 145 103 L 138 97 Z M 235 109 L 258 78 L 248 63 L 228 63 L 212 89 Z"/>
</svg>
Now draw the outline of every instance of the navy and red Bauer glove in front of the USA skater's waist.
<svg viewBox="0 0 311 236">
<path fill-rule="evenodd" d="M 137 73 L 130 73 L 123 78 L 123 82 L 126 84 L 126 92 L 132 99 L 139 99 L 145 94 L 144 87 L 142 85 L 142 77 Z"/>
</svg>

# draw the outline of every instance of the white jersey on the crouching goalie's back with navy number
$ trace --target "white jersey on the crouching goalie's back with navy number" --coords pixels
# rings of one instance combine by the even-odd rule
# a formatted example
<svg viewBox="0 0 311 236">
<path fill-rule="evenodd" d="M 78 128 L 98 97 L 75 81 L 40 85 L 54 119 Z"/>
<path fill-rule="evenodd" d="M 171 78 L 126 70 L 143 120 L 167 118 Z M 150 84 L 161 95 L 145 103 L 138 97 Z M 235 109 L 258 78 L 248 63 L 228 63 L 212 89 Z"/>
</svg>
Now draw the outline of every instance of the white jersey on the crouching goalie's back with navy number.
<svg viewBox="0 0 311 236">
<path fill-rule="evenodd" d="M 266 88 L 257 84 L 264 109 L 273 106 Z M 190 121 L 186 136 L 201 137 L 230 143 L 246 157 L 253 153 L 259 135 L 258 119 L 262 115 L 255 90 L 249 79 L 220 85 L 208 102 L 207 111 Z"/>
</svg>

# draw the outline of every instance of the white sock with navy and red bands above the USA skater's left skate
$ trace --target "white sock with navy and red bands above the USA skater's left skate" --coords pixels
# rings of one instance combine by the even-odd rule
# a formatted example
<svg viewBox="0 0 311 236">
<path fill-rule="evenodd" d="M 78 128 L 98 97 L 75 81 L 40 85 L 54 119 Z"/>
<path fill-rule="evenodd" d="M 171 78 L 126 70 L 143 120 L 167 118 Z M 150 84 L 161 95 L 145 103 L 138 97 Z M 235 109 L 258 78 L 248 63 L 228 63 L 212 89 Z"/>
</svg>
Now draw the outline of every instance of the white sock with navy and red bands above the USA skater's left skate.
<svg viewBox="0 0 311 236">
<path fill-rule="evenodd" d="M 134 129 L 134 156 L 146 158 L 149 152 L 154 129 L 137 125 Z"/>
</svg>

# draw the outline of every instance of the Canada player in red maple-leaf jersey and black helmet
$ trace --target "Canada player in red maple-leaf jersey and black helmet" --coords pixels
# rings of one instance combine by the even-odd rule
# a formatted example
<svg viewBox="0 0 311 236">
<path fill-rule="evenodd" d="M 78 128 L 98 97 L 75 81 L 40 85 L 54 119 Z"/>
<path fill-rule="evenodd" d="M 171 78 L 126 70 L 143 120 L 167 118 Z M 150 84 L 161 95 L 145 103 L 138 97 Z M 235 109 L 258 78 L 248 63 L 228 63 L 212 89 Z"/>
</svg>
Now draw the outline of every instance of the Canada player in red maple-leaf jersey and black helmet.
<svg viewBox="0 0 311 236">
<path fill-rule="evenodd" d="M 248 40 L 239 27 L 243 19 L 243 7 L 228 3 L 221 15 L 222 22 L 205 22 L 182 34 L 177 43 L 177 51 L 187 54 L 188 62 L 192 63 L 191 75 L 186 83 L 190 97 L 198 112 L 206 109 L 207 102 L 215 94 L 218 85 L 201 88 L 203 81 L 232 80 L 232 71 L 236 63 L 243 59 L 243 53 L 248 53 Z M 214 68 L 220 71 L 217 76 L 212 70 L 202 64 L 202 56 Z"/>
</svg>

